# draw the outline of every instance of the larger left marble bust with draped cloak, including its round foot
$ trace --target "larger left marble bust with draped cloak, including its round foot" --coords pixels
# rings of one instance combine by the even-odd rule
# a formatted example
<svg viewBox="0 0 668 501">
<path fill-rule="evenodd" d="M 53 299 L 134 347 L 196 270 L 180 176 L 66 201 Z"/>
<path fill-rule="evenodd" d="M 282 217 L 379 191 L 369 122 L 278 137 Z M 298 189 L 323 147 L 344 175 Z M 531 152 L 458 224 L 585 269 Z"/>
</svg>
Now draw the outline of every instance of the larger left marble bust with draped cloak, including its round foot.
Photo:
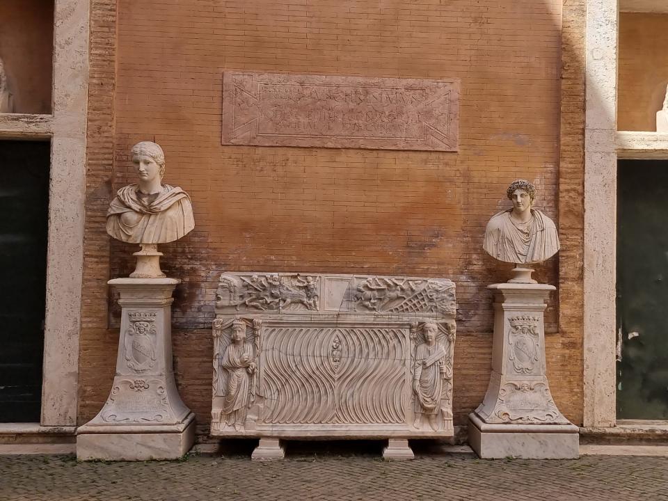
<svg viewBox="0 0 668 501">
<path fill-rule="evenodd" d="M 150 141 L 137 143 L 132 147 L 132 163 L 138 183 L 119 189 L 111 200 L 106 232 L 120 241 L 141 244 L 142 250 L 134 253 L 138 256 L 138 269 L 131 277 L 164 276 L 157 262 L 162 255 L 157 252 L 157 244 L 180 239 L 195 228 L 193 207 L 188 193 L 177 186 L 162 184 L 165 154 L 159 145 Z"/>
</svg>

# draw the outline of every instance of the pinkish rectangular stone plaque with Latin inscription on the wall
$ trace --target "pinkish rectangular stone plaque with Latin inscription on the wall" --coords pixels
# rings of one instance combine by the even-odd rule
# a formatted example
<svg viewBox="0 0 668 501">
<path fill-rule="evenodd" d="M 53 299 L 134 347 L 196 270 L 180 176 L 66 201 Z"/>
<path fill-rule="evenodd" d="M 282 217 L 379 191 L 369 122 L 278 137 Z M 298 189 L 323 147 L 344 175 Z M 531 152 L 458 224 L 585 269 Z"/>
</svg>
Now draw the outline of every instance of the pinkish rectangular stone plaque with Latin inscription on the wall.
<svg viewBox="0 0 668 501">
<path fill-rule="evenodd" d="M 459 79 L 225 72 L 223 144 L 456 151 Z"/>
</svg>

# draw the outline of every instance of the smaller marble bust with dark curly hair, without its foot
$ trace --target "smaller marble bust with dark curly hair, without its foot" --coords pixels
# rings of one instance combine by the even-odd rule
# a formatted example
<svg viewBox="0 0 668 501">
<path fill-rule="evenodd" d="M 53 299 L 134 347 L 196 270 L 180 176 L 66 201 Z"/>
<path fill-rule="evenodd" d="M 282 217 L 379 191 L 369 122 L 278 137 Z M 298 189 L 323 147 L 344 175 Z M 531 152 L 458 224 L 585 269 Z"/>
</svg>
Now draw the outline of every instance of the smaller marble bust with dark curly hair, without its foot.
<svg viewBox="0 0 668 501">
<path fill-rule="evenodd" d="M 491 257 L 528 269 L 527 265 L 547 260 L 559 250 L 557 227 L 532 205 L 536 188 L 516 180 L 507 189 L 511 209 L 495 214 L 487 223 L 483 248 Z"/>
</svg>

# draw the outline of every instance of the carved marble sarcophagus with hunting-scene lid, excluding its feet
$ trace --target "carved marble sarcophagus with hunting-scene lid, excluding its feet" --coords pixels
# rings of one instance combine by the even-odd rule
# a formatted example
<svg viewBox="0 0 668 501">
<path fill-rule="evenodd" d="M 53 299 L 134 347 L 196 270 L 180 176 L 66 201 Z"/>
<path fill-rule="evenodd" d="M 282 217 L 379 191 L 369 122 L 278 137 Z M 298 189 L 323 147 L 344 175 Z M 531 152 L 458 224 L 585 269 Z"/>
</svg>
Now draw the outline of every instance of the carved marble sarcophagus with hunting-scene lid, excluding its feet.
<svg viewBox="0 0 668 501">
<path fill-rule="evenodd" d="M 444 278 L 223 273 L 212 435 L 452 436 Z"/>
</svg>

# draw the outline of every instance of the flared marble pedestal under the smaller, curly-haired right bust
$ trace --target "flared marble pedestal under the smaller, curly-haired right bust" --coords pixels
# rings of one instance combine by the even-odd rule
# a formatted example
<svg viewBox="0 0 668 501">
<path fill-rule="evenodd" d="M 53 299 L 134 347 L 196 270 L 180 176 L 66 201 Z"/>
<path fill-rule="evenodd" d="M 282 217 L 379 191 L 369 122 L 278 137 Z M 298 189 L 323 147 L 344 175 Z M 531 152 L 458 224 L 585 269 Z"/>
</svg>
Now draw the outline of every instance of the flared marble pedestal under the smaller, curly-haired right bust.
<svg viewBox="0 0 668 501">
<path fill-rule="evenodd" d="M 546 300 L 555 287 L 500 283 L 494 292 L 492 374 L 470 415 L 469 440 L 482 458 L 578 457 L 578 427 L 559 412 L 546 376 Z"/>
</svg>

